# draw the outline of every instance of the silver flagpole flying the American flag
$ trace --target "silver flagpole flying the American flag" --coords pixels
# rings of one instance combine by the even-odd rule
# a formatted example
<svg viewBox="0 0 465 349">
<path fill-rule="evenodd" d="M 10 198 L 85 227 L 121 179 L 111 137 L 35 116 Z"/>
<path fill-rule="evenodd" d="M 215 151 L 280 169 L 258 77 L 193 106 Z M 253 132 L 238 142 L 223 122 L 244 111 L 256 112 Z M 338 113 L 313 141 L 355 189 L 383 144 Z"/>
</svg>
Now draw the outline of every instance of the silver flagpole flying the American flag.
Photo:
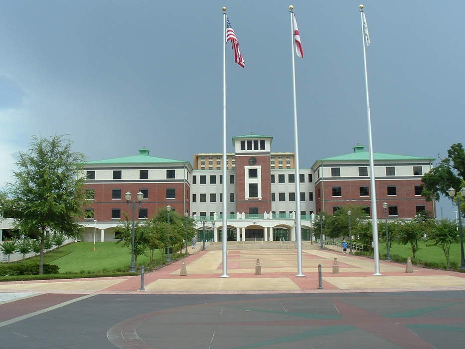
<svg viewBox="0 0 465 349">
<path fill-rule="evenodd" d="M 227 180 L 226 168 L 228 160 L 226 158 L 226 7 L 223 7 L 223 228 L 221 229 L 222 247 L 223 247 L 223 275 L 222 278 L 228 278 L 228 219 L 227 219 Z M 215 233 L 215 232 L 213 232 Z"/>
</svg>

